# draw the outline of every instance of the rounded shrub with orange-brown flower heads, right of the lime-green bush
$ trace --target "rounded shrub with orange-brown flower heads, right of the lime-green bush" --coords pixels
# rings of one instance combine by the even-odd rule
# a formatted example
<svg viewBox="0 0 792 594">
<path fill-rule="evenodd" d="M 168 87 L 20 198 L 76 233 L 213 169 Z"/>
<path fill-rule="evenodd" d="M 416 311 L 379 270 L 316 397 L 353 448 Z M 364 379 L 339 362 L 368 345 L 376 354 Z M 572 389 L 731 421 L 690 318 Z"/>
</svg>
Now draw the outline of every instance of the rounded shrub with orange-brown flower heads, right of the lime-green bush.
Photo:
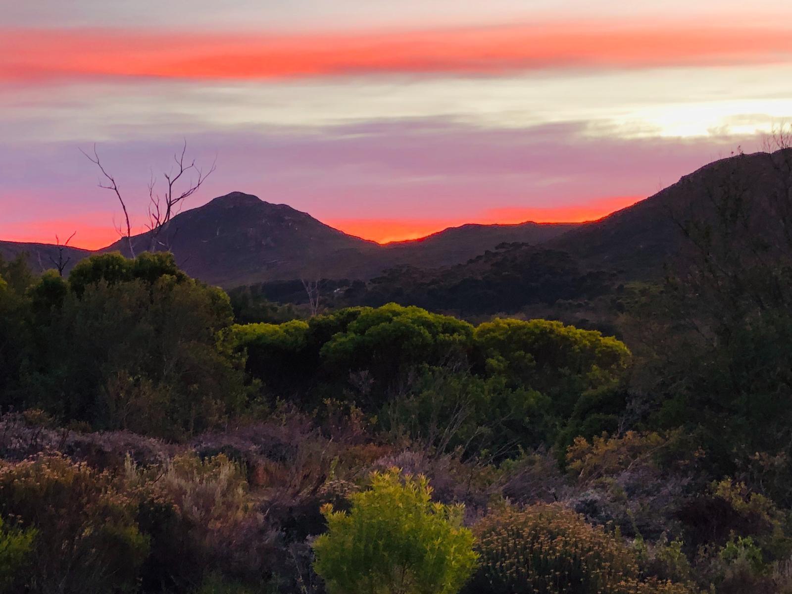
<svg viewBox="0 0 792 594">
<path fill-rule="evenodd" d="M 634 554 L 616 536 L 558 504 L 507 508 L 475 527 L 481 564 L 470 592 L 487 594 L 649 594 L 687 592 L 640 581 Z"/>
</svg>

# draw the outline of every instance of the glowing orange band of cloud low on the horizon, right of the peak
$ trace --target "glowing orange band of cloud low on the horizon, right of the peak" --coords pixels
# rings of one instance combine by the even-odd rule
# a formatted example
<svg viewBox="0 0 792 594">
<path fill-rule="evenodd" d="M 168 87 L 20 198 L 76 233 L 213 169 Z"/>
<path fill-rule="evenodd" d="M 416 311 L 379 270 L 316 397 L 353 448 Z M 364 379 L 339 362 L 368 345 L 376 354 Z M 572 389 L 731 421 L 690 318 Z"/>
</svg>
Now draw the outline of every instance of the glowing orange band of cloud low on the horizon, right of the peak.
<svg viewBox="0 0 792 594">
<path fill-rule="evenodd" d="M 638 196 L 615 196 L 590 200 L 576 204 L 551 208 L 493 208 L 481 215 L 467 219 L 325 219 L 330 227 L 378 243 L 417 239 L 429 234 L 459 227 L 466 223 L 513 224 L 533 221 L 535 223 L 582 223 L 601 219 L 641 200 Z"/>
</svg>

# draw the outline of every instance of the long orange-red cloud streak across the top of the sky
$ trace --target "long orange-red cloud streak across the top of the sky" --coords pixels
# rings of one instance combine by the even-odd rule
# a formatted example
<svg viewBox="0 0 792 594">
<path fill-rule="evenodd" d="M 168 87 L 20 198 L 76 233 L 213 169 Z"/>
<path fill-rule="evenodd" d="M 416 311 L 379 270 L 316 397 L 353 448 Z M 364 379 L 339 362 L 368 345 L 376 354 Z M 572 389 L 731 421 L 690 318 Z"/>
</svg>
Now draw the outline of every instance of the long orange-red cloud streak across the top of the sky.
<svg viewBox="0 0 792 594">
<path fill-rule="evenodd" d="M 292 35 L 0 29 L 0 81 L 501 74 L 559 67 L 760 63 L 792 58 L 790 32 L 784 26 L 707 23 L 703 28 L 671 22 Z"/>
</svg>

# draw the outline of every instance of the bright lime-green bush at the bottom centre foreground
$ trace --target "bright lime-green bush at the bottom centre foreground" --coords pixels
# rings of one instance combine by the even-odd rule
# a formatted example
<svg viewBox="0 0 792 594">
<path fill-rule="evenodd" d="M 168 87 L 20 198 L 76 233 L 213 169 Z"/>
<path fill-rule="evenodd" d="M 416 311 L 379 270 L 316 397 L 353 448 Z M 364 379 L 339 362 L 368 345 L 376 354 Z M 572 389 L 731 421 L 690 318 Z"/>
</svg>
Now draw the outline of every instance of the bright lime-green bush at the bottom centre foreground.
<svg viewBox="0 0 792 594">
<path fill-rule="evenodd" d="M 470 577 L 473 535 L 463 509 L 433 503 L 426 478 L 397 469 L 371 476 L 349 513 L 323 508 L 328 531 L 314 542 L 314 569 L 329 594 L 455 594 Z"/>
</svg>

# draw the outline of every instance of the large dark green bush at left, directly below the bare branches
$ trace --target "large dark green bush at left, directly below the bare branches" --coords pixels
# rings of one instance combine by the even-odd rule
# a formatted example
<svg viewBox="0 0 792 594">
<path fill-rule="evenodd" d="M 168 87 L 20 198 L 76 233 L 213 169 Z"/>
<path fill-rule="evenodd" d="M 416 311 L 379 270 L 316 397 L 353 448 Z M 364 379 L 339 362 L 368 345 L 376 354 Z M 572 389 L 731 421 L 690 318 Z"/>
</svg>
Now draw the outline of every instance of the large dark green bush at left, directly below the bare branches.
<svg viewBox="0 0 792 594">
<path fill-rule="evenodd" d="M 24 406 L 171 439 L 246 406 L 244 361 L 218 344 L 233 319 L 227 295 L 188 279 L 171 254 L 90 257 L 68 281 L 42 276 L 29 299 Z"/>
</svg>

